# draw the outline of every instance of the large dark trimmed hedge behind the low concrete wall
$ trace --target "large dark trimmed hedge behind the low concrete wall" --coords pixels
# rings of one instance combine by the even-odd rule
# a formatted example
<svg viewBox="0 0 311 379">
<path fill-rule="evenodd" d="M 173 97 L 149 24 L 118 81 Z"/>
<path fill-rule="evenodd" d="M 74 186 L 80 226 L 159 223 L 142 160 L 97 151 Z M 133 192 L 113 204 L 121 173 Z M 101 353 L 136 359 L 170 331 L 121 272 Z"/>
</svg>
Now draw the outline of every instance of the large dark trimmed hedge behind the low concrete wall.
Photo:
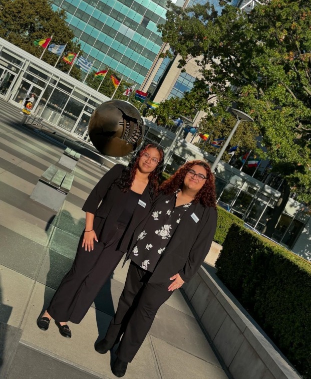
<svg viewBox="0 0 311 379">
<path fill-rule="evenodd" d="M 305 378 L 311 378 L 311 265 L 238 225 L 217 275 Z"/>
</svg>

